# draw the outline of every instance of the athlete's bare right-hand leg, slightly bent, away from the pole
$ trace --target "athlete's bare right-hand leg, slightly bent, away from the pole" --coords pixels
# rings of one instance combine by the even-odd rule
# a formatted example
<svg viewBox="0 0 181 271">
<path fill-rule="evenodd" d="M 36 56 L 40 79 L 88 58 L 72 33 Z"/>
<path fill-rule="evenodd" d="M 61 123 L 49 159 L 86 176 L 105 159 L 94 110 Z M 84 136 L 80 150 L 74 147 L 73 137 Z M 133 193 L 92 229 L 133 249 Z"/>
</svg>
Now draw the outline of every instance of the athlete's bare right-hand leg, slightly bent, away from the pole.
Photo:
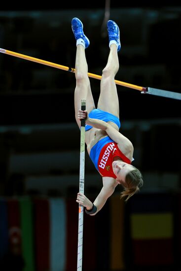
<svg viewBox="0 0 181 271">
<path fill-rule="evenodd" d="M 110 45 L 108 63 L 103 69 L 98 108 L 119 117 L 119 101 L 114 77 L 119 69 L 117 46 Z"/>
</svg>

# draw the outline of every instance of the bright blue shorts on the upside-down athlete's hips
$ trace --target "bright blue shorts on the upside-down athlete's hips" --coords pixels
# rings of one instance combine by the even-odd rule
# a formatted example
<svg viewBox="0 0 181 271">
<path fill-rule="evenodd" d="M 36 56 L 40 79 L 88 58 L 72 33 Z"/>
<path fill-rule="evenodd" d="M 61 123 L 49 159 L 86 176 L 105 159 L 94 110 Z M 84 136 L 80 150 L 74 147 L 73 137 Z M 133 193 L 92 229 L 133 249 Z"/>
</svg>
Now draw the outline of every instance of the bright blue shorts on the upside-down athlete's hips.
<svg viewBox="0 0 181 271">
<path fill-rule="evenodd" d="M 120 126 L 121 126 L 120 121 L 116 116 L 114 116 L 106 111 L 103 111 L 101 109 L 93 109 L 89 113 L 89 117 L 91 119 L 103 120 L 105 122 L 112 121 L 113 123 L 115 123 L 118 126 L 118 128 L 120 128 Z M 87 124 L 85 125 L 85 131 L 88 131 L 91 128 L 92 128 L 92 126 L 87 125 Z"/>
</svg>

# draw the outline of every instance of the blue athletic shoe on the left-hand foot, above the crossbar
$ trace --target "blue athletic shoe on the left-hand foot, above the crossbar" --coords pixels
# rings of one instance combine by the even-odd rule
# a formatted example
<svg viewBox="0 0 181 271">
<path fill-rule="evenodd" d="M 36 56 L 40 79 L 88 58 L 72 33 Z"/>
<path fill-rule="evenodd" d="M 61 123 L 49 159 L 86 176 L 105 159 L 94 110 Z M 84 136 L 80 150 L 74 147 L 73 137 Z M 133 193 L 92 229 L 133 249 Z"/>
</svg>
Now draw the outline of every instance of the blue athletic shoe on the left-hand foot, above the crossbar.
<svg viewBox="0 0 181 271">
<path fill-rule="evenodd" d="M 83 33 L 83 24 L 78 18 L 72 19 L 72 31 L 75 36 L 75 39 L 82 38 L 85 42 L 85 48 L 90 44 L 89 39 Z"/>
</svg>

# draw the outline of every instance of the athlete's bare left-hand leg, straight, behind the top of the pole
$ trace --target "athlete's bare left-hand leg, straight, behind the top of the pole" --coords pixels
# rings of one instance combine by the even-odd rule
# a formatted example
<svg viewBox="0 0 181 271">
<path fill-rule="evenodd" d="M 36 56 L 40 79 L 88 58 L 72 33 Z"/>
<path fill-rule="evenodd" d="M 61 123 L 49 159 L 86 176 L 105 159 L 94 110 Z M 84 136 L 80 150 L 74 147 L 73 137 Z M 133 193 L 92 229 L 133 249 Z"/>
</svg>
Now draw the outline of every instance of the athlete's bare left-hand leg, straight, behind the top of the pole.
<svg viewBox="0 0 181 271">
<path fill-rule="evenodd" d="M 89 77 L 87 75 L 88 67 L 85 57 L 85 48 L 78 44 L 76 47 L 75 59 L 75 78 L 76 87 L 74 91 L 74 108 L 75 119 L 80 127 L 80 120 L 77 118 L 78 109 L 81 109 L 81 99 L 86 99 L 86 110 L 88 113 L 95 108 L 94 100 L 92 97 Z"/>
</svg>

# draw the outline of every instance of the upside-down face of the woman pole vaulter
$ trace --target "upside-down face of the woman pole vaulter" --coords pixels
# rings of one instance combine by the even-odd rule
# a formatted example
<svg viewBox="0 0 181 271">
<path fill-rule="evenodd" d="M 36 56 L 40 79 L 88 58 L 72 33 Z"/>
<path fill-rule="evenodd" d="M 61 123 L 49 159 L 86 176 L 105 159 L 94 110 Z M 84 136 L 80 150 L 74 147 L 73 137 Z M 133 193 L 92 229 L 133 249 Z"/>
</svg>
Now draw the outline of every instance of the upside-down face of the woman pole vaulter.
<svg viewBox="0 0 181 271">
<path fill-rule="evenodd" d="M 127 187 L 126 184 L 126 175 L 131 171 L 134 170 L 135 167 L 132 165 L 129 165 L 123 161 L 113 161 L 112 162 L 112 169 L 114 174 L 116 175 L 116 180 L 119 184 L 122 184 L 123 186 Z"/>
</svg>

